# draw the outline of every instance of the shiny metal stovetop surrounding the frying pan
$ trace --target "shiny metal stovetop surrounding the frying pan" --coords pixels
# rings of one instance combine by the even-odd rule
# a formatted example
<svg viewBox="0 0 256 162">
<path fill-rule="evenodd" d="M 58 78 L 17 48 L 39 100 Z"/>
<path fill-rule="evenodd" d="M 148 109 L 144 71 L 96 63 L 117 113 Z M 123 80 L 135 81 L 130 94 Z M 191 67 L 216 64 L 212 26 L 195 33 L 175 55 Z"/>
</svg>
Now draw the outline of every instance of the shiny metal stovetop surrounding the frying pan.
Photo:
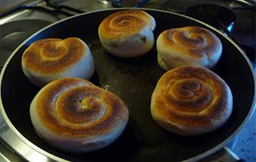
<svg viewBox="0 0 256 162">
<path fill-rule="evenodd" d="M 256 35 L 255 35 L 255 3 L 254 1 L 242 1 L 242 0 L 53 0 L 54 4 L 64 5 L 72 7 L 73 9 L 79 9 L 81 12 L 89 12 L 98 9 L 111 9 L 121 7 L 143 7 L 151 9 L 164 9 L 180 14 L 188 14 L 186 11 L 191 6 L 195 6 L 201 3 L 218 4 L 221 7 L 230 9 L 236 14 L 234 20 L 235 25 L 231 28 L 226 26 L 215 26 L 222 32 L 225 32 L 227 37 L 233 38 L 236 43 L 239 43 L 241 47 L 247 53 L 250 61 L 252 61 L 255 67 L 255 48 L 256 48 Z M 254 6 L 252 6 L 253 4 Z M 21 4 L 20 4 L 21 5 Z M 29 1 L 23 3 L 22 8 L 16 6 L 14 9 L 10 9 L 7 15 L 6 13 L 0 13 L 0 69 L 3 67 L 4 62 L 9 58 L 9 55 L 22 43 L 26 38 L 31 36 L 34 32 L 49 24 L 67 18 L 68 14 L 78 14 L 78 12 L 71 11 L 70 9 L 61 8 L 56 9 L 49 7 L 44 1 Z M 36 6 L 36 9 L 32 9 Z M 38 7 L 43 7 L 46 10 L 42 10 Z M 50 13 L 46 12 L 48 9 Z M 56 11 L 57 10 L 57 11 Z M 64 12 L 62 12 L 64 10 Z M 16 12 L 13 12 L 16 11 Z M 213 12 L 213 11 L 212 11 Z M 5 14 L 5 15 L 3 15 Z M 1 17 L 2 15 L 2 17 Z M 192 15 L 191 15 L 192 16 Z M 193 15 L 195 16 L 195 15 Z M 198 18 L 200 19 L 200 18 Z M 203 17 L 201 17 L 203 19 Z M 22 21 L 22 22 L 21 22 Z M 20 23 L 21 22 L 21 23 Z M 214 26 L 214 25 L 212 25 Z M 16 29 L 15 29 L 16 28 Z M 15 29 L 14 32 L 12 30 Z M 9 46 L 9 43 L 12 45 Z M 254 69 L 255 71 L 255 69 Z M 255 71 L 256 72 L 256 71 Z M 0 119 L 0 131 L 3 130 L 2 119 Z M 239 136 L 237 136 L 227 148 L 230 148 L 234 153 L 245 161 L 256 161 L 256 129 L 254 124 L 256 123 L 256 113 L 253 114 L 252 119 L 244 126 Z M 3 136 L 1 136 L 3 138 Z M 1 139 L 1 138 L 0 138 Z M 1 142 L 3 142 L 1 144 Z M 4 147 L 5 141 L 0 140 L 0 161 L 22 161 L 23 159 L 15 153 L 15 151 L 9 151 Z M 7 142 L 8 144 L 8 142 Z M 6 160 L 7 159 L 7 160 Z"/>
</svg>

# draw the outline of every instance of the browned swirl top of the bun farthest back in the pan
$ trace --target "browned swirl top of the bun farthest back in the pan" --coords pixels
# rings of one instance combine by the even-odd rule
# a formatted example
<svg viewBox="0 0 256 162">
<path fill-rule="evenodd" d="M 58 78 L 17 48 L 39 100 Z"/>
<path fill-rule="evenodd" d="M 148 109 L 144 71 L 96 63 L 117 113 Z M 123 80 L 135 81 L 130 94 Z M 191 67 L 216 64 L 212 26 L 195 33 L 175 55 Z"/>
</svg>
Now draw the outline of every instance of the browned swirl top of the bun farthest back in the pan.
<svg viewBox="0 0 256 162">
<path fill-rule="evenodd" d="M 154 30 L 155 22 L 151 15 L 142 10 L 121 10 L 108 15 L 99 26 L 99 34 L 104 39 L 131 37 L 146 26 Z"/>
</svg>

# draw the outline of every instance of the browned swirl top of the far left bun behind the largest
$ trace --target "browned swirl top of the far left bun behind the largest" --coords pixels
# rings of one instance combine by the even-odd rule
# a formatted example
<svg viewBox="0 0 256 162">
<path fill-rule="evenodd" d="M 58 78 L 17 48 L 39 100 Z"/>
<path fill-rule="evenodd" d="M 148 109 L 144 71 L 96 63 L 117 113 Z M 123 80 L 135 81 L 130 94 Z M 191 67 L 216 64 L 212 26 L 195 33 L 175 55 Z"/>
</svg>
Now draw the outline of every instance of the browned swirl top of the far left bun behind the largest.
<svg viewBox="0 0 256 162">
<path fill-rule="evenodd" d="M 79 38 L 45 38 L 32 43 L 22 55 L 24 67 L 39 73 L 57 73 L 84 57 L 86 46 Z"/>
</svg>

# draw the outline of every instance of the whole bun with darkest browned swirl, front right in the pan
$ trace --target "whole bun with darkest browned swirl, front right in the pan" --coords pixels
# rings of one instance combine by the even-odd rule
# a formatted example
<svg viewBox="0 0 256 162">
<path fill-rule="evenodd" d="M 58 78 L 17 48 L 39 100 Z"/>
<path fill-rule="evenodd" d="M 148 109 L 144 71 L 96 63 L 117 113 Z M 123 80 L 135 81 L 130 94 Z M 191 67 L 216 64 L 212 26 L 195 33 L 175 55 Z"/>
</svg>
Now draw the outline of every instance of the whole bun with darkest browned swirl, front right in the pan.
<svg viewBox="0 0 256 162">
<path fill-rule="evenodd" d="M 166 72 L 151 98 L 151 114 L 166 130 L 183 136 L 218 129 L 233 108 L 231 90 L 206 67 L 177 67 Z"/>
</svg>

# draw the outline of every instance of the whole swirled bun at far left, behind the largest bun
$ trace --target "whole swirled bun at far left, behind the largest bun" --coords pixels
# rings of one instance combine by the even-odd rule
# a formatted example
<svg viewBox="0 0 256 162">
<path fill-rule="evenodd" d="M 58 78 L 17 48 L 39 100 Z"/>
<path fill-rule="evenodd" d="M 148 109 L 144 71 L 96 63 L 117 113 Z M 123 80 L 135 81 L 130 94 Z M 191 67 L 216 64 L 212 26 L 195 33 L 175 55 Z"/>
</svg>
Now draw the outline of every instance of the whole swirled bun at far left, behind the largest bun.
<svg viewBox="0 0 256 162">
<path fill-rule="evenodd" d="M 79 38 L 38 40 L 23 53 L 21 66 L 26 78 L 39 87 L 58 78 L 89 79 L 95 70 L 90 49 Z"/>
</svg>

